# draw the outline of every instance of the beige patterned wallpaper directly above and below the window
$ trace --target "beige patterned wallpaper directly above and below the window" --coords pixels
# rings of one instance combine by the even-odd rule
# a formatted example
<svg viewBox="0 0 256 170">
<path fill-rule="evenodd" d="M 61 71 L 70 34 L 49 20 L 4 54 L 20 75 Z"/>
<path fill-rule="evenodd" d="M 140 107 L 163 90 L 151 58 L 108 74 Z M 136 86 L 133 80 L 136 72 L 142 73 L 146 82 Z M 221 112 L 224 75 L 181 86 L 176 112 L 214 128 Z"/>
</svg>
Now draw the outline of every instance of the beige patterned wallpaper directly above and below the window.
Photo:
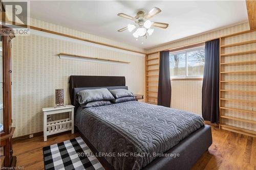
<svg viewBox="0 0 256 170">
<path fill-rule="evenodd" d="M 166 50 L 168 48 L 174 48 L 191 43 L 206 41 L 210 39 L 219 38 L 224 35 L 233 34 L 249 30 L 248 22 L 242 23 L 237 26 L 231 26 L 220 30 L 199 34 L 193 37 L 184 38 L 181 40 L 173 41 L 147 49 L 146 53 L 153 53 L 156 51 Z M 243 38 L 242 38 L 243 39 Z M 241 40 L 242 40 L 241 39 Z M 245 39 L 245 38 L 244 38 Z M 230 39 L 229 42 L 236 42 L 234 39 Z M 254 44 L 255 45 L 255 44 Z M 153 55 L 151 55 L 153 56 Z M 196 114 L 202 115 L 202 81 L 171 81 L 172 85 L 172 100 L 171 106 L 173 108 L 187 110 Z"/>
</svg>

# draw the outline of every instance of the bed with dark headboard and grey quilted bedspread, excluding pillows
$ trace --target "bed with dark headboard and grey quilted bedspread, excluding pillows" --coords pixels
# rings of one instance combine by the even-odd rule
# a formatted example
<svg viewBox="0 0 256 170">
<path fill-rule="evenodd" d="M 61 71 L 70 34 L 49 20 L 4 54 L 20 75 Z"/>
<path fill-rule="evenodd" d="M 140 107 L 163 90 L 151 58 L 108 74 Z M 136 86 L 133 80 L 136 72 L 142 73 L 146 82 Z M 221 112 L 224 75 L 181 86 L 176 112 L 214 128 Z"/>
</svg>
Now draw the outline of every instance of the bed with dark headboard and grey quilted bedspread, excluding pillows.
<svg viewBox="0 0 256 170">
<path fill-rule="evenodd" d="M 137 101 L 81 108 L 84 89 L 128 89 L 124 77 L 71 76 L 75 126 L 106 169 L 189 169 L 212 143 L 202 117 Z"/>
</svg>

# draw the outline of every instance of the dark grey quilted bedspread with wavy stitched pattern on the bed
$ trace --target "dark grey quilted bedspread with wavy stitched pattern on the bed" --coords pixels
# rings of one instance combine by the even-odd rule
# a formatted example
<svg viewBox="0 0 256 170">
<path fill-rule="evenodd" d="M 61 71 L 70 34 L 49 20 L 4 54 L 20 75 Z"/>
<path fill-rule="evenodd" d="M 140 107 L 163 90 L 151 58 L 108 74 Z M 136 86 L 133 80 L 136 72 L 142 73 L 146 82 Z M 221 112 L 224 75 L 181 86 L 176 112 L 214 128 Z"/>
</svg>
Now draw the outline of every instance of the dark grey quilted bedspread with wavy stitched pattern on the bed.
<svg viewBox="0 0 256 170">
<path fill-rule="evenodd" d="M 104 157 L 115 169 L 130 170 L 152 162 L 204 126 L 204 120 L 191 112 L 130 101 L 78 108 L 75 125 L 98 152 L 108 154 Z"/>
</svg>

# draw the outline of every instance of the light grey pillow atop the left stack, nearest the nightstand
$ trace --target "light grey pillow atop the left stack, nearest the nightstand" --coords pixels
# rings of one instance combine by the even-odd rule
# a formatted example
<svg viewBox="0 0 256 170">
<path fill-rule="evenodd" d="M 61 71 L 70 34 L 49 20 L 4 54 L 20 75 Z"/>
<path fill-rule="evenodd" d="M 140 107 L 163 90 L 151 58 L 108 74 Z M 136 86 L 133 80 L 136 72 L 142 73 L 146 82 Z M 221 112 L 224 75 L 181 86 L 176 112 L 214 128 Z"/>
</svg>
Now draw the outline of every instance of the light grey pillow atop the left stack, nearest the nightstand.
<svg viewBox="0 0 256 170">
<path fill-rule="evenodd" d="M 82 90 L 77 93 L 80 105 L 92 101 L 113 100 L 114 96 L 106 88 Z"/>
</svg>

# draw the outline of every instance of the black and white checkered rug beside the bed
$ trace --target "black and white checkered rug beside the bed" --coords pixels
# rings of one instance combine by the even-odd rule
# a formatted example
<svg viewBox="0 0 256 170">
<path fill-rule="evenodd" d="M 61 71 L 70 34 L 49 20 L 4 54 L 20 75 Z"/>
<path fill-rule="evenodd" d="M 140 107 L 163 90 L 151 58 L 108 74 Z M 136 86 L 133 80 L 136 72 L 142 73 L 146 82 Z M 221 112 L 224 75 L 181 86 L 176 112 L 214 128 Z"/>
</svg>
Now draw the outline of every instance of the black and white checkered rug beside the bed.
<svg viewBox="0 0 256 170">
<path fill-rule="evenodd" d="M 104 169 L 81 137 L 42 148 L 45 169 Z"/>
</svg>

